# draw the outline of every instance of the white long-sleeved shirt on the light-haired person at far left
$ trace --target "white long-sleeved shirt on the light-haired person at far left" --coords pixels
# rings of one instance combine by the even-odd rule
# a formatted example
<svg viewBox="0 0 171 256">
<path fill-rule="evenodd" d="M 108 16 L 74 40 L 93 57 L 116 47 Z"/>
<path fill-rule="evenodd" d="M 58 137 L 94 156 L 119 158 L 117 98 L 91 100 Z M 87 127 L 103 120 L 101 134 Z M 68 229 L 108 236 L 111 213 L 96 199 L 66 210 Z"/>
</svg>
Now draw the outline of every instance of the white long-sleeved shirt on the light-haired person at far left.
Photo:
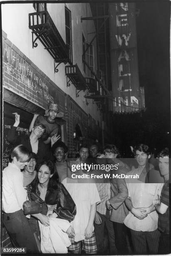
<svg viewBox="0 0 171 256">
<path fill-rule="evenodd" d="M 23 187 L 23 173 L 13 163 L 2 172 L 2 209 L 6 213 L 23 209 L 27 200 L 27 191 Z"/>
</svg>

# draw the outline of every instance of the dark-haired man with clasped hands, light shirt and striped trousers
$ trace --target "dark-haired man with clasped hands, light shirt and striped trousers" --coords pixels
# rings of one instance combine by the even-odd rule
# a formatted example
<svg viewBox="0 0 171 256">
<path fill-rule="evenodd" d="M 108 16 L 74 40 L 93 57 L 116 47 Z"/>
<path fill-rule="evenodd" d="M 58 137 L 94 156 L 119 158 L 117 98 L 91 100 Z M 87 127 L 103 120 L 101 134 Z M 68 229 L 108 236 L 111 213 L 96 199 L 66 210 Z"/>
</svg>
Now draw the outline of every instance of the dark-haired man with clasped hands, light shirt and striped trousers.
<svg viewBox="0 0 171 256">
<path fill-rule="evenodd" d="M 158 252 L 160 233 L 157 229 L 158 214 L 153 202 L 160 195 L 163 184 L 148 183 L 150 179 L 153 179 L 149 175 L 151 170 L 146 168 L 148 159 L 150 159 L 149 146 L 139 144 L 134 147 L 133 152 L 138 168 L 127 174 L 138 174 L 139 179 L 125 179 L 128 188 L 128 197 L 125 200 L 125 204 L 129 209 L 129 214 L 126 216 L 124 224 L 130 228 L 134 253 L 156 254 Z M 157 172 L 155 174 L 158 175 Z"/>
</svg>

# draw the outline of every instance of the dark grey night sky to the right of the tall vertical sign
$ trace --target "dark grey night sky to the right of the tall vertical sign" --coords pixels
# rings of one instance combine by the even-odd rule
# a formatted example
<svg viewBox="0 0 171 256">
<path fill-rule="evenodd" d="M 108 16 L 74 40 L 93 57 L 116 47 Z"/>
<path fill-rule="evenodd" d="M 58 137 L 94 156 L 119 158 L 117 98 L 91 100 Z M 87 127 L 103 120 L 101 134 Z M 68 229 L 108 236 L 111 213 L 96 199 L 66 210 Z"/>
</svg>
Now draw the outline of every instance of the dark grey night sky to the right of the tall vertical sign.
<svg viewBox="0 0 171 256">
<path fill-rule="evenodd" d="M 162 1 L 161 1 L 162 2 Z M 170 3 L 138 3 L 136 19 L 140 85 L 146 107 L 169 115 L 170 109 Z"/>
</svg>

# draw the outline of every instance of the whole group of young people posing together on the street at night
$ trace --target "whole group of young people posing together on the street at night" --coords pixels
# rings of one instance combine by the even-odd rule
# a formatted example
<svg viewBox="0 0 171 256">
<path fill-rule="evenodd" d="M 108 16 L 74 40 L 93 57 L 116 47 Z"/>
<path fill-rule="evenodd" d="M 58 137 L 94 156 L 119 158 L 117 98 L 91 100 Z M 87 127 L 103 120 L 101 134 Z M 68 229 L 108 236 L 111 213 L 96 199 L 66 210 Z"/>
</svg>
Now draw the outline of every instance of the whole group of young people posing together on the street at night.
<svg viewBox="0 0 171 256">
<path fill-rule="evenodd" d="M 116 146 L 99 153 L 96 144 L 82 145 L 69 163 L 68 148 L 59 139 L 57 119 L 63 114 L 57 104 L 50 104 L 45 116 L 34 115 L 30 135 L 18 136 L 20 116 L 14 114 L 7 140 L 16 146 L 2 172 L 2 221 L 12 246 L 26 247 L 27 253 L 169 253 L 168 148 L 158 155 L 159 170 L 149 164 L 151 153 L 144 144 L 133 149 L 137 166 L 119 159 Z M 106 173 L 98 167 L 102 163 L 117 168 L 108 172 L 109 179 L 80 181 L 72 179 L 71 163 L 97 164 L 89 172 L 96 175 Z M 116 174 L 139 178 L 113 178 Z M 25 215 L 28 196 L 46 207 Z"/>
</svg>

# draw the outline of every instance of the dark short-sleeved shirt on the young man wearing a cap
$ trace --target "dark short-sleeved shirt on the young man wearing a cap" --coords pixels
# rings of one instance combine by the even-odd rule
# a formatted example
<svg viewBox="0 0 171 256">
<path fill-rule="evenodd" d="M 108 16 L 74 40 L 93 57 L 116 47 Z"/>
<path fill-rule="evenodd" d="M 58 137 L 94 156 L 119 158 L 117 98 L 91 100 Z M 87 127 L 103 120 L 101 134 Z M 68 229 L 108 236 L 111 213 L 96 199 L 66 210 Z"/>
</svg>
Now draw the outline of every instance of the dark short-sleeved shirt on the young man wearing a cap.
<svg viewBox="0 0 171 256">
<path fill-rule="evenodd" d="M 55 133 L 59 132 L 59 125 L 56 118 L 51 122 L 47 116 L 39 115 L 35 120 L 35 125 L 42 123 L 45 125 L 45 133 L 42 136 L 42 140 L 45 141 L 47 138 L 52 137 Z"/>
</svg>

